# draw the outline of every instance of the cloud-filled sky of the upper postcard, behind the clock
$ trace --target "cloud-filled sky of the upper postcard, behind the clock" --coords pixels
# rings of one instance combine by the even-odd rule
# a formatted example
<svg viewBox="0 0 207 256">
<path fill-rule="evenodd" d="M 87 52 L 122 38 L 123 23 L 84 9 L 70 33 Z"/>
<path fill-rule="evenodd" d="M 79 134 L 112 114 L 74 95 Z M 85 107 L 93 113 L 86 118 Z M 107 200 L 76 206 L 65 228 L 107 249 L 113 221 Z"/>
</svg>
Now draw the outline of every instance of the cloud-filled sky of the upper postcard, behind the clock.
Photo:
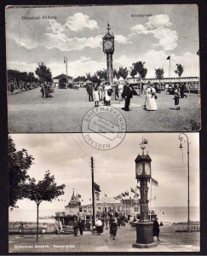
<svg viewBox="0 0 207 256">
<path fill-rule="evenodd" d="M 182 77 L 198 77 L 198 7 L 193 4 L 6 9 L 7 68 L 34 73 L 43 62 L 55 77 L 66 73 L 66 56 L 68 75 L 94 74 L 106 68 L 102 38 L 108 22 L 115 37 L 113 68 L 144 61 L 147 79 L 155 78 L 159 67 L 172 78 L 178 63 Z"/>
</svg>

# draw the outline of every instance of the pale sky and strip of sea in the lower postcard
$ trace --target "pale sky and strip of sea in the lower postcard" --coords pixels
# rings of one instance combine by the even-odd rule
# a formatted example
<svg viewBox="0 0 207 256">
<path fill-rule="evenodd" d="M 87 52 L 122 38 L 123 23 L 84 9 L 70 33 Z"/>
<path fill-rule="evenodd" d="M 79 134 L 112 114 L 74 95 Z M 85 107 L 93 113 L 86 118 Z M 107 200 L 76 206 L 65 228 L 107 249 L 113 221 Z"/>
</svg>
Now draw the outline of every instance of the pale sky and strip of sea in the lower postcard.
<svg viewBox="0 0 207 256">
<path fill-rule="evenodd" d="M 184 136 L 181 150 L 178 136 L 179 133 L 127 133 L 118 147 L 103 151 L 89 146 L 80 133 L 11 135 L 16 148 L 26 148 L 35 159 L 28 170 L 30 177 L 41 180 L 49 170 L 58 185 L 66 184 L 65 195 L 59 197 L 60 201 L 43 201 L 40 205 L 42 210 L 56 208 L 62 211 L 71 200 L 73 189 L 81 195 L 82 205 L 91 202 L 91 156 L 101 200 L 105 194 L 109 200 L 124 191 L 130 192 L 130 188 L 135 189 L 135 158 L 142 154 L 142 137 L 148 141 L 145 153 L 148 152 L 152 159 L 152 177 L 158 181 L 158 187 L 152 186 L 152 198 L 156 197 L 152 207 L 187 207 L 187 142 Z M 199 135 L 187 133 L 187 137 L 190 148 L 190 206 L 198 207 Z M 17 206 L 19 210 L 36 209 L 36 204 L 27 199 L 18 201 Z"/>
</svg>

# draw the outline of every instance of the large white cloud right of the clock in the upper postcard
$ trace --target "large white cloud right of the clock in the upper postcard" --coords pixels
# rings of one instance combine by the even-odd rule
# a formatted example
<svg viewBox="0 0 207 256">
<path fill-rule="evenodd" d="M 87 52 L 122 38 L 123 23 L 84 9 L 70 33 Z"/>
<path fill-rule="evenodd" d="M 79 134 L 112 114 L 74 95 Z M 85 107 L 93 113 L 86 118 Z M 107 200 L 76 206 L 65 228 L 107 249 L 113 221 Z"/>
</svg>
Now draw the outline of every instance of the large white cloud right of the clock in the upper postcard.
<svg viewBox="0 0 207 256">
<path fill-rule="evenodd" d="M 162 47 L 164 50 L 172 50 L 177 46 L 177 32 L 170 30 L 170 18 L 168 15 L 155 15 L 149 18 L 149 21 L 145 23 L 145 26 L 137 24 L 136 26 L 131 26 L 130 30 L 136 32 L 137 34 L 150 34 L 154 38 L 158 38 L 157 44 L 152 44 L 154 47 Z"/>
</svg>

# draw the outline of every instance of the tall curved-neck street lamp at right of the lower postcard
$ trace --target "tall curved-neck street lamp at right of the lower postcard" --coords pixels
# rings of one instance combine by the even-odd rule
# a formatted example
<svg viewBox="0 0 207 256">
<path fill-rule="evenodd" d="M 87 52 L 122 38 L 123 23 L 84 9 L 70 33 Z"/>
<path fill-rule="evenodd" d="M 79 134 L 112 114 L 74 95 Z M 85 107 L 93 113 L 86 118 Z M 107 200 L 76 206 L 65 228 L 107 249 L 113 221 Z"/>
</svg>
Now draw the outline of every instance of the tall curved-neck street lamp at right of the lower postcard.
<svg viewBox="0 0 207 256">
<path fill-rule="evenodd" d="M 189 140 L 188 140 L 188 137 L 187 137 L 187 140 L 185 140 L 185 137 L 187 137 L 186 133 L 180 133 L 179 134 L 179 140 L 181 141 L 182 143 L 182 140 L 184 139 L 184 143 L 187 143 L 187 232 L 190 232 L 190 176 L 189 176 L 189 171 L 190 171 L 190 168 L 189 168 L 189 163 L 190 163 L 190 160 L 189 160 L 189 154 L 190 154 L 190 151 L 189 151 Z M 180 144 L 180 147 L 182 149 L 182 144 Z"/>
</svg>

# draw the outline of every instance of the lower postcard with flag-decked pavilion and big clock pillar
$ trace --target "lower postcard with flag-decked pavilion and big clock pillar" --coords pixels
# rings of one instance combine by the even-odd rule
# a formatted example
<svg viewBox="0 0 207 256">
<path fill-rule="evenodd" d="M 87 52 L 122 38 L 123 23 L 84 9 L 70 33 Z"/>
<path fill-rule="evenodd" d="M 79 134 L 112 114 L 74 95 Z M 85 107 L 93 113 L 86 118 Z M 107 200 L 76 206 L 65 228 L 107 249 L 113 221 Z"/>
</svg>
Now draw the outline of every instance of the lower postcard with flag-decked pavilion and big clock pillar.
<svg viewBox="0 0 207 256">
<path fill-rule="evenodd" d="M 200 252 L 198 133 L 85 138 L 9 135 L 9 253 Z"/>
</svg>

